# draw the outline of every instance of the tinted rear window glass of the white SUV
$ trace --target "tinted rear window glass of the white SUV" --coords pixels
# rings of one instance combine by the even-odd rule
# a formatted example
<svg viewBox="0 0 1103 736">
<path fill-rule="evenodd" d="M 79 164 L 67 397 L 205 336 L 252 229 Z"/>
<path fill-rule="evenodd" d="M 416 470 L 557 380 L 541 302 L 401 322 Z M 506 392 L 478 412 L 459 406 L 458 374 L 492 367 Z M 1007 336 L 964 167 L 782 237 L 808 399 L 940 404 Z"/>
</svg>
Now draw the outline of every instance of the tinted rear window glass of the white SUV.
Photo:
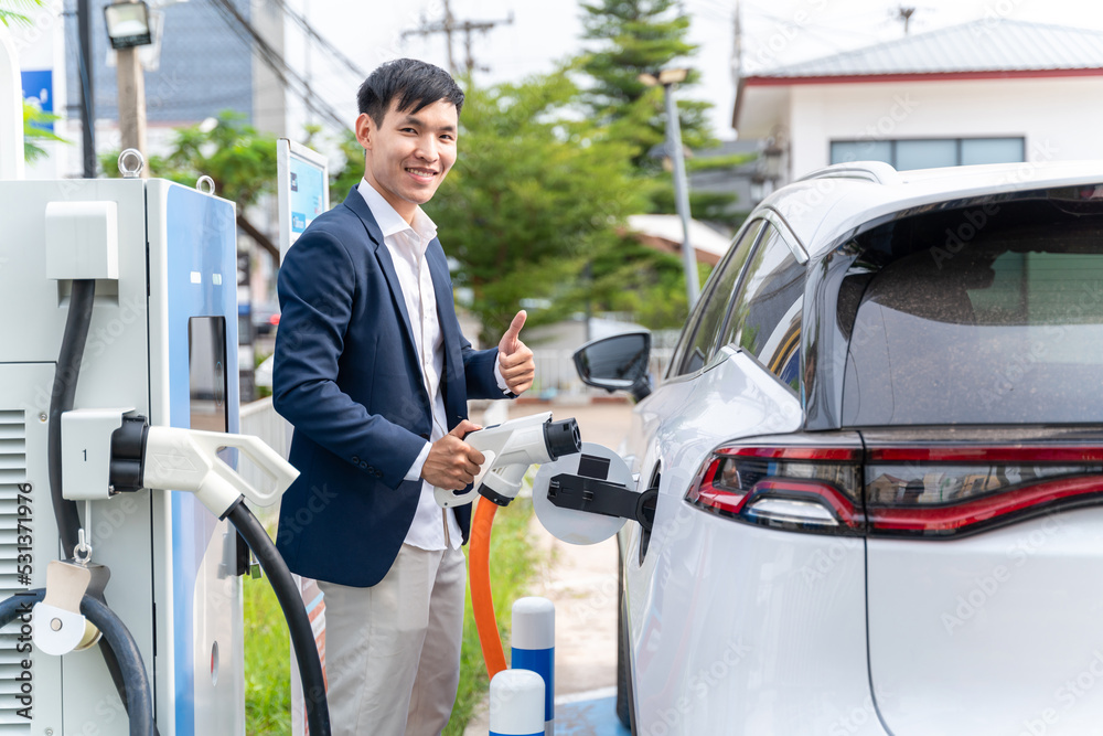
<svg viewBox="0 0 1103 736">
<path fill-rule="evenodd" d="M 1099 422 L 1100 218 L 940 233 L 864 280 L 844 425 Z"/>
</svg>

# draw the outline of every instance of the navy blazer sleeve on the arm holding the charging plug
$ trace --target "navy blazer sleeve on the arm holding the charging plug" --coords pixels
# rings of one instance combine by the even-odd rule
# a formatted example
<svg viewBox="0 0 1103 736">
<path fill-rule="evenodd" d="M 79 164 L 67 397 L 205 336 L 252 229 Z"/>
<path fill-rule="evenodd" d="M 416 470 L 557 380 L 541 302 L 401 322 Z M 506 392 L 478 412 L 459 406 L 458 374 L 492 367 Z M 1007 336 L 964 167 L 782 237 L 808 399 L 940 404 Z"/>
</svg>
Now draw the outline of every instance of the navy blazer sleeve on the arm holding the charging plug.
<svg viewBox="0 0 1103 736">
<path fill-rule="evenodd" d="M 280 326 L 276 333 L 272 404 L 311 440 L 397 488 L 425 439 L 370 414 L 338 385 L 339 360 L 352 316 L 355 266 L 334 234 L 303 233 L 280 266 Z M 364 470 L 367 473 L 366 470 Z"/>
</svg>

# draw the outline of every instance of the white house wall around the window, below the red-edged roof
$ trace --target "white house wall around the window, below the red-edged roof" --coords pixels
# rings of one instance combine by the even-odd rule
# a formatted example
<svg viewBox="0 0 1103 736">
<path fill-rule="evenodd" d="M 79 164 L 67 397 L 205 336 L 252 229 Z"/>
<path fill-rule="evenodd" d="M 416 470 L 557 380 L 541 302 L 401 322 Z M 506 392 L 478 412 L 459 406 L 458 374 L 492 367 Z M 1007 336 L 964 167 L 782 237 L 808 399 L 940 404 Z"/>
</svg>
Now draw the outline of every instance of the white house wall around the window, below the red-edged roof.
<svg viewBox="0 0 1103 736">
<path fill-rule="evenodd" d="M 829 163 L 832 140 L 1021 136 L 1027 161 L 1103 159 L 1103 77 L 790 87 L 790 178 Z"/>
</svg>

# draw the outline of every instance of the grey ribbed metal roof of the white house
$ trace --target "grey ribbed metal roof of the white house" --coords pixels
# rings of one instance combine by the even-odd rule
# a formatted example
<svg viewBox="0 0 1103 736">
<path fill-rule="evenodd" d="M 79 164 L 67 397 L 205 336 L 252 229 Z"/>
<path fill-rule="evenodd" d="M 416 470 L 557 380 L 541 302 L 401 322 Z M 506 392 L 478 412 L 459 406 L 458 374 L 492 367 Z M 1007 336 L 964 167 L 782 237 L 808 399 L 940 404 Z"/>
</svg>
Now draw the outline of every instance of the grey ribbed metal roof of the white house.
<svg viewBox="0 0 1103 736">
<path fill-rule="evenodd" d="M 987 18 L 748 75 L 747 79 L 1103 71 L 1103 32 Z"/>
</svg>

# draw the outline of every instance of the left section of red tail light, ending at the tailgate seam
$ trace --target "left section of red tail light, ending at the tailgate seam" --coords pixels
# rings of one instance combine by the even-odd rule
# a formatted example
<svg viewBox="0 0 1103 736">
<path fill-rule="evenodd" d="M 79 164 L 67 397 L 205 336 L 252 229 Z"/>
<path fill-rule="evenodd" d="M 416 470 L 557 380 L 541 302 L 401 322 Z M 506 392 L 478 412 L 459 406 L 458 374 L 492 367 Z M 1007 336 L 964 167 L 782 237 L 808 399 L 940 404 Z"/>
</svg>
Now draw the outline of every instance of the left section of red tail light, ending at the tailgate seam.
<svg viewBox="0 0 1103 736">
<path fill-rule="evenodd" d="M 861 448 L 731 445 L 686 494 L 695 506 L 762 526 L 860 534 Z"/>
</svg>

